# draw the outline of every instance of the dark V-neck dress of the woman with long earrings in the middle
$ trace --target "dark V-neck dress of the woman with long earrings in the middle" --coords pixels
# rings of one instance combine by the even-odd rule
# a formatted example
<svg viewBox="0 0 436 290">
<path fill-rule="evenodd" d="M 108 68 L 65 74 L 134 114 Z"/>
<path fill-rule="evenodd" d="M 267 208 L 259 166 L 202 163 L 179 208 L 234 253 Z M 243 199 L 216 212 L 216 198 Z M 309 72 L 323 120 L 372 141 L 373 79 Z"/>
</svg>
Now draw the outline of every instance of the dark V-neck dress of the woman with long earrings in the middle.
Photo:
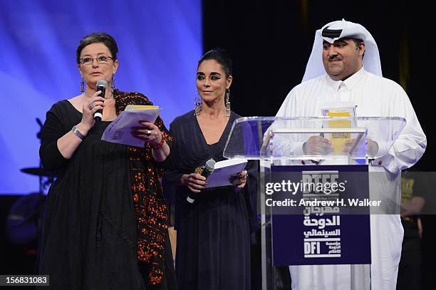
<svg viewBox="0 0 436 290">
<path fill-rule="evenodd" d="M 224 160 L 224 145 L 233 121 L 232 113 L 218 143 L 208 145 L 194 112 L 177 117 L 170 125 L 174 143 L 164 175 L 165 196 L 176 200 L 177 287 L 183 290 L 249 290 L 250 224 L 256 224 L 256 162 L 249 162 L 244 190 L 217 187 L 202 192 L 194 203 L 190 190 L 177 185 L 212 157 Z"/>
</svg>

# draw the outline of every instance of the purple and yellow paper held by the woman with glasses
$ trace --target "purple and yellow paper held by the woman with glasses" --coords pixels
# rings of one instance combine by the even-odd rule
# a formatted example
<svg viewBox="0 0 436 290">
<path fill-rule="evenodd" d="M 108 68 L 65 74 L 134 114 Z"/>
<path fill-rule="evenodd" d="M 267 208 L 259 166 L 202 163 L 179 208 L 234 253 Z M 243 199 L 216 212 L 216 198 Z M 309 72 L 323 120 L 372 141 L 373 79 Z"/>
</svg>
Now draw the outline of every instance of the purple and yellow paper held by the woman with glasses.
<svg viewBox="0 0 436 290">
<path fill-rule="evenodd" d="M 112 143 L 144 147 L 144 141 L 132 136 L 131 128 L 140 126 L 139 121 L 154 123 L 161 108 L 157 105 L 128 105 L 103 132 L 101 140 Z"/>
</svg>

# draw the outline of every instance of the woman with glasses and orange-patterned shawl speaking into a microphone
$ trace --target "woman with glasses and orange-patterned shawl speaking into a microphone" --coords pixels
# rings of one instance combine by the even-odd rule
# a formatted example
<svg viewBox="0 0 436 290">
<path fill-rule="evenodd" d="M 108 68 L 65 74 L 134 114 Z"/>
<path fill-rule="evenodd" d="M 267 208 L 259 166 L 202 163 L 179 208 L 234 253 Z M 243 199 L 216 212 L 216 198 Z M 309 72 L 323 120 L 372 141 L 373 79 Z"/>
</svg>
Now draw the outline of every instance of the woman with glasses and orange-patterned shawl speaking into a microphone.
<svg viewBox="0 0 436 290">
<path fill-rule="evenodd" d="M 41 161 L 57 172 L 39 259 L 51 289 L 175 289 L 160 184 L 172 138 L 158 117 L 132 128 L 144 147 L 100 140 L 127 105 L 152 105 L 115 89 L 117 53 L 107 33 L 85 36 L 76 54 L 82 93 L 55 103 L 43 125 Z M 109 84 L 104 98 L 98 81 Z"/>
</svg>

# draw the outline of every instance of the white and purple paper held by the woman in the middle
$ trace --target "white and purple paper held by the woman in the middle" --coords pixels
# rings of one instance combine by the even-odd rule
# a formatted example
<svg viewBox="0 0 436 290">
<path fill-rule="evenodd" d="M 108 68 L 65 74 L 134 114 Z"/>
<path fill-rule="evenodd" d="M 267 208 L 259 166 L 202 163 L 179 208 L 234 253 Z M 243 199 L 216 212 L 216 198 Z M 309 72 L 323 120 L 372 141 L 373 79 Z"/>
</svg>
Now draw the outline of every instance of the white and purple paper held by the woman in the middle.
<svg viewBox="0 0 436 290">
<path fill-rule="evenodd" d="M 214 171 L 207 177 L 206 188 L 232 185 L 229 181 L 230 177 L 242 172 L 246 162 L 248 162 L 246 159 L 229 159 L 215 163 Z"/>
</svg>

